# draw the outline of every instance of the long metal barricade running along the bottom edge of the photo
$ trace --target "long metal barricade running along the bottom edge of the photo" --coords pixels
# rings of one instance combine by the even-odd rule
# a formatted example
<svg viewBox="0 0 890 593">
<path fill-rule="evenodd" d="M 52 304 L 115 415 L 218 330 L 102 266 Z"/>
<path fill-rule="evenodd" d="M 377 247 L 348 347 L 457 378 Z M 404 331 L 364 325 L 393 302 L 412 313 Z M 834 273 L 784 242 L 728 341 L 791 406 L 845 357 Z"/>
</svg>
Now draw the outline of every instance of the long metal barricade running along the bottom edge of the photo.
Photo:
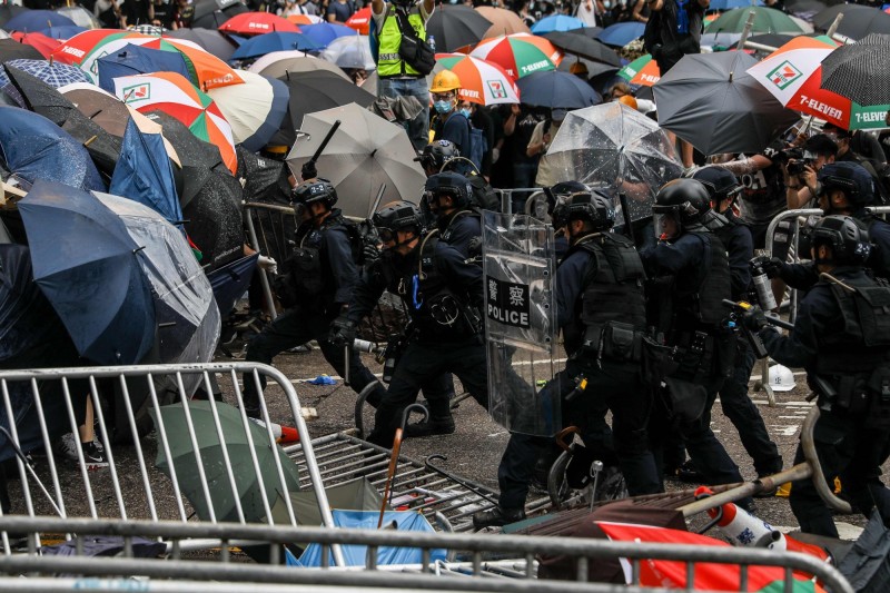
<svg viewBox="0 0 890 593">
<path fill-rule="evenodd" d="M 110 589 L 121 579 L 128 581 L 127 590 L 145 591 L 244 591 L 253 583 L 263 591 L 277 591 L 276 585 L 313 585 L 340 587 L 386 587 L 388 590 L 434 591 L 497 591 L 497 592 L 573 592 L 609 591 L 642 592 L 665 591 L 640 585 L 641 564 L 649 559 L 682 562 L 688 583 L 694 583 L 699 563 L 738 565 L 738 591 L 749 590 L 751 566 L 783 569 L 784 591 L 792 591 L 794 572 L 818 579 L 830 593 L 852 593 L 849 582 L 831 564 L 814 556 L 775 552 L 763 548 L 698 546 L 680 544 L 645 544 L 611 542 L 577 537 L 542 537 L 514 535 L 469 535 L 398 532 L 392 530 L 329 530 L 323 527 L 291 527 L 273 525 L 209 524 L 110 520 L 58 520 L 50 517 L 0 517 L 3 533 L 65 532 L 76 536 L 116 536 L 123 542 L 119 557 L 85 557 L 27 554 L 0 556 L 0 591 L 57 591 L 67 587 Z M 169 559 L 135 559 L 132 538 L 141 536 L 172 543 Z M 234 540 L 265 543 L 271 547 L 294 542 L 314 542 L 323 546 L 366 545 L 364 566 L 350 569 L 297 569 L 279 565 L 257 565 L 234 562 L 228 553 L 220 553 L 219 562 L 184 560 L 179 551 L 189 538 L 217 540 L 227 551 Z M 79 540 L 79 538 L 78 538 Z M 422 562 L 411 565 L 378 566 L 380 547 L 419 548 Z M 458 553 L 458 562 L 433 561 L 434 550 Z M 327 554 L 323 554 L 323 557 Z M 540 555 L 572 559 L 575 572 L 563 575 L 574 580 L 537 577 Z M 491 561 L 488 557 L 518 559 Z M 591 563 L 605 559 L 626 559 L 630 563 L 630 586 L 590 583 Z M 47 576 L 63 575 L 65 580 L 48 582 Z M 24 576 L 21 576 L 24 575 Z M 490 576 L 479 579 L 478 576 Z M 502 576 L 502 577 L 491 577 Z M 513 576 L 508 579 L 507 576 Z M 103 586 L 103 583 L 106 586 Z M 215 583 L 215 584 L 214 584 Z M 261 583 L 261 585 L 260 585 Z M 167 585 L 166 587 L 164 585 Z M 62 586 L 60 586 L 62 585 Z M 212 585 L 212 586 L 211 586 Z M 686 591 L 702 591 L 692 587 Z"/>
</svg>

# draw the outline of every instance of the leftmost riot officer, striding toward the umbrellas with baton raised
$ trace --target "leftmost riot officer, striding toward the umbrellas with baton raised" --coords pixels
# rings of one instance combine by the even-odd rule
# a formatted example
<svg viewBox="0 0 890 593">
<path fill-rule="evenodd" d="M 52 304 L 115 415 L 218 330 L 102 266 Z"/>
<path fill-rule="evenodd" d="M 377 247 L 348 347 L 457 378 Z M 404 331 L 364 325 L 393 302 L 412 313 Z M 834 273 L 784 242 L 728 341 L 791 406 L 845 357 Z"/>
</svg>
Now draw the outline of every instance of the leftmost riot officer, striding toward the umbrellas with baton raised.
<svg viewBox="0 0 890 593">
<path fill-rule="evenodd" d="M 343 375 L 345 353 L 327 337 L 330 324 L 345 309 L 358 280 L 356 256 L 337 204 L 337 191 L 325 179 L 310 179 L 294 190 L 294 201 L 304 209 L 305 220 L 295 235 L 297 248 L 284 263 L 285 273 L 276 283 L 286 310 L 247 345 L 246 360 L 270 364 L 280 352 L 315 339 L 325 359 Z M 375 380 L 358 353 L 349 350 L 349 379 L 356 393 Z M 266 380 L 260 375 L 260 388 Z M 378 387 L 367 401 L 376 406 L 383 399 Z M 245 409 L 259 417 L 259 398 L 253 375 L 244 377 Z"/>
</svg>

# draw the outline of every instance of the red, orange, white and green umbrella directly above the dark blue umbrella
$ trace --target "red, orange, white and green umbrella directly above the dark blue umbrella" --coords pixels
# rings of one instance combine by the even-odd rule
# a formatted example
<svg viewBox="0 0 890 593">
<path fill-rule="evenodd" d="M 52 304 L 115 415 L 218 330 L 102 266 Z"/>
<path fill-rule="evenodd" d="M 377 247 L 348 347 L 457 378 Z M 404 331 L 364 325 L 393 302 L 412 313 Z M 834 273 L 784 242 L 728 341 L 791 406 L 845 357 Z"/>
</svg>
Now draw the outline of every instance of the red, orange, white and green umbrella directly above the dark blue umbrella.
<svg viewBox="0 0 890 593">
<path fill-rule="evenodd" d="M 528 33 L 487 39 L 469 55 L 501 66 L 514 79 L 540 70 L 555 70 L 563 59 L 556 46 Z"/>
</svg>

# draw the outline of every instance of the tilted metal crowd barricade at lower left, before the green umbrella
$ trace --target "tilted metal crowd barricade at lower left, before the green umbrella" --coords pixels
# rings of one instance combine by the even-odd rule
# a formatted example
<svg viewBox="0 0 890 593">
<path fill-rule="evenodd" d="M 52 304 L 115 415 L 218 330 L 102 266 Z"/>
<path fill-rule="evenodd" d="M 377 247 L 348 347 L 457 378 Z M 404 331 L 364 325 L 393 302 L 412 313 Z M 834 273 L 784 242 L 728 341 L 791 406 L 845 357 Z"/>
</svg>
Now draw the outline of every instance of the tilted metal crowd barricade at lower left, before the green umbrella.
<svg viewBox="0 0 890 593">
<path fill-rule="evenodd" d="M 211 375 L 215 375 L 225 393 L 229 394 L 229 401 L 236 406 L 233 408 L 235 416 L 231 409 L 224 408 L 226 404 L 212 397 L 206 404 L 191 399 L 191 394 L 199 385 L 204 386 L 206 393 L 214 393 L 210 386 Z M 245 380 L 255 382 L 260 394 L 261 417 L 266 421 L 260 432 L 265 433 L 265 438 L 257 436 L 256 428 L 251 429 L 253 421 L 244 412 L 239 384 L 241 375 Z M 278 445 L 268 422 L 271 415 L 263 396 L 264 391 L 259 388 L 261 378 L 273 384 L 269 388 L 280 389 L 284 396 L 289 418 L 283 421 L 276 414 L 273 419 L 293 424 L 297 428 L 303 443 L 301 468 L 307 474 L 303 482 L 313 488 L 324 524 L 333 526 L 334 520 L 296 391 L 283 373 L 256 363 L 1 372 L 0 397 L 6 417 L 19 417 L 29 406 L 31 411 L 27 422 L 21 422 L 18 426 L 14 422 L 9 423 L 7 441 L 0 439 L 3 448 L 14 449 L 18 468 L 18 482 L 6 480 L 8 492 L 3 494 L 8 494 L 9 506 L 0 513 L 31 517 L 49 515 L 61 518 L 80 516 L 92 520 L 167 520 L 186 524 L 194 521 L 192 515 L 197 514 L 184 490 L 188 480 L 192 483 L 191 496 L 199 498 L 206 515 L 200 516 L 199 521 L 261 521 L 270 525 L 277 521 L 277 524 L 296 525 L 290 500 L 294 488 L 288 486 L 288 482 L 293 484 L 295 480 L 286 477 L 286 474 L 293 475 L 293 470 L 285 466 L 289 458 L 275 453 Z M 119 397 L 110 397 L 109 394 L 115 388 L 119 392 Z M 269 388 L 266 389 L 266 396 L 270 393 Z M 108 461 L 108 467 L 97 472 L 88 471 L 90 463 L 85 459 L 83 448 L 79 445 L 80 438 L 77 437 L 76 414 L 80 412 L 79 406 L 86 406 L 87 399 L 95 409 L 96 432 L 105 444 Z M 110 422 L 111 415 L 107 412 L 110 409 L 107 407 L 108 399 L 123 408 L 116 409 L 117 424 L 126 423 L 129 435 L 147 434 L 151 427 L 149 411 L 154 412 L 154 437 L 130 437 L 131 443 L 127 445 L 116 442 L 112 429 L 116 424 Z M 181 406 L 187 435 L 175 435 L 167 429 L 162 406 L 169 404 Z M 172 413 L 172 409 L 166 408 L 168 413 Z M 224 413 L 227 422 L 222 421 Z M 202 419 L 196 423 L 198 414 Z M 198 424 L 205 427 L 200 432 L 196 429 Z M 77 464 L 71 464 L 56 448 L 57 438 L 68 432 L 75 435 L 73 441 L 78 444 Z M 243 463 L 238 464 L 236 475 L 230 455 L 238 443 L 248 444 L 248 451 L 245 456 L 247 461 L 243 458 Z M 210 454 L 208 449 L 214 445 L 221 453 L 221 467 L 216 475 L 210 476 L 207 475 L 209 458 L 208 463 L 202 459 Z M 46 459 L 38 458 L 40 463 L 33 467 L 23 453 L 28 453 L 28 449 L 39 451 L 40 447 L 46 453 Z M 176 458 L 184 459 L 184 466 L 194 462 L 197 476 L 177 475 L 177 463 L 172 461 L 174 447 L 177 448 Z M 260 467 L 258 456 L 269 448 L 271 455 L 268 457 L 273 462 L 266 457 L 265 467 Z M 151 464 L 152 455 L 157 459 L 164 456 L 167 461 L 166 473 L 156 467 L 157 464 Z M 269 470 L 269 465 L 274 468 Z M 197 487 L 194 486 L 195 480 Z M 267 483 L 267 480 L 273 483 Z M 256 491 L 264 510 L 261 517 L 246 516 L 241 491 L 247 481 L 256 482 Z M 18 492 L 14 492 L 16 486 Z M 270 500 L 271 495 L 268 493 L 276 493 L 279 498 Z M 215 496 L 224 500 L 224 495 L 230 495 L 234 508 L 217 508 L 217 504 L 221 503 Z M 271 512 L 273 508 L 276 513 Z M 3 532 L 1 537 L 6 554 L 9 555 L 8 533 Z M 336 548 L 334 554 L 336 562 L 342 564 L 340 550 Z"/>
</svg>

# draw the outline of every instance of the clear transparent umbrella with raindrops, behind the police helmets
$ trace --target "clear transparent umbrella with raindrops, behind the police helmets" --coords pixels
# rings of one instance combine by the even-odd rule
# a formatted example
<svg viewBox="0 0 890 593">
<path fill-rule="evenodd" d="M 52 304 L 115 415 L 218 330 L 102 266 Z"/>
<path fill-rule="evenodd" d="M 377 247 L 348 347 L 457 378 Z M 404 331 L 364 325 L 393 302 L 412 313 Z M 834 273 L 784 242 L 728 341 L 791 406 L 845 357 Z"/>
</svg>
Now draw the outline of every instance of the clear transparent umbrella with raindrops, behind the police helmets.
<svg viewBox="0 0 890 593">
<path fill-rule="evenodd" d="M 651 216 L 657 190 L 683 172 L 664 130 L 619 102 L 568 111 L 543 158 L 557 179 L 577 179 L 610 195 L 622 189 L 632 220 Z M 617 197 L 614 202 L 617 208 Z"/>
</svg>

